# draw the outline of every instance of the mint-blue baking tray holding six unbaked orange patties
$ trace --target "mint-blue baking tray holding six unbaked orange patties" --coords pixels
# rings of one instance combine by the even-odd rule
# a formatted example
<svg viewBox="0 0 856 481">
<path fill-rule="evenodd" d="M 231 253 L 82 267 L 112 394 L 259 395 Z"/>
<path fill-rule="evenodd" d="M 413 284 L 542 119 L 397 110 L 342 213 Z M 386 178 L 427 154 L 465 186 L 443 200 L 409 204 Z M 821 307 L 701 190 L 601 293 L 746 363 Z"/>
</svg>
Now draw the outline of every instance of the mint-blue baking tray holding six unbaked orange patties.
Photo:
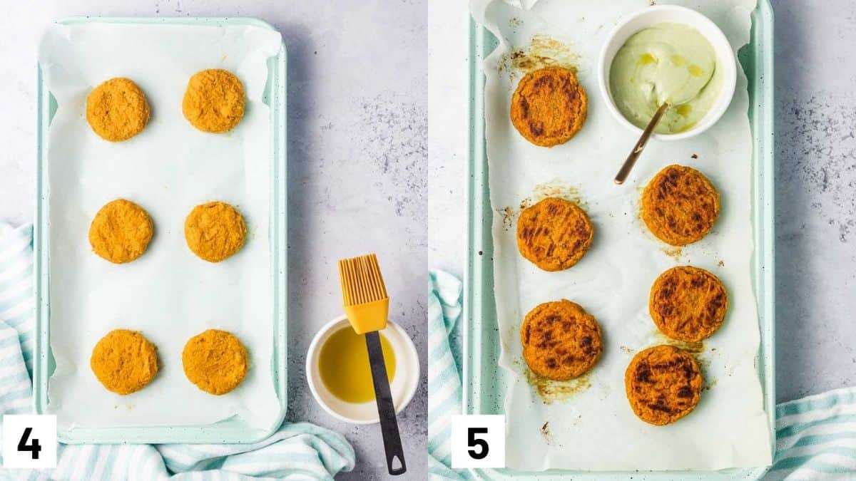
<svg viewBox="0 0 856 481">
<path fill-rule="evenodd" d="M 188 25 L 188 26 L 253 26 L 274 30 L 270 24 L 253 18 L 154 18 L 154 17 L 71 17 L 57 23 L 110 23 L 126 25 Z M 75 428 L 59 431 L 63 443 L 249 443 L 270 436 L 285 419 L 287 400 L 287 282 L 288 255 L 287 191 L 286 178 L 286 48 L 268 59 L 268 80 L 263 101 L 270 107 L 273 125 L 273 157 L 270 158 L 270 276 L 273 278 L 274 300 L 270 306 L 273 317 L 273 371 L 274 389 L 279 398 L 280 410 L 270 430 L 253 428 L 240 418 L 230 418 L 211 425 L 181 425 L 155 427 Z M 33 225 L 33 253 L 36 295 L 36 353 L 33 359 L 33 410 L 45 413 L 48 405 L 48 383 L 56 368 L 51 353 L 51 193 L 48 183 L 47 145 L 48 129 L 56 112 L 56 100 L 48 92 L 41 68 L 38 68 L 38 147 L 36 159 L 36 221 Z M 169 409 L 170 400 L 163 406 Z"/>
</svg>

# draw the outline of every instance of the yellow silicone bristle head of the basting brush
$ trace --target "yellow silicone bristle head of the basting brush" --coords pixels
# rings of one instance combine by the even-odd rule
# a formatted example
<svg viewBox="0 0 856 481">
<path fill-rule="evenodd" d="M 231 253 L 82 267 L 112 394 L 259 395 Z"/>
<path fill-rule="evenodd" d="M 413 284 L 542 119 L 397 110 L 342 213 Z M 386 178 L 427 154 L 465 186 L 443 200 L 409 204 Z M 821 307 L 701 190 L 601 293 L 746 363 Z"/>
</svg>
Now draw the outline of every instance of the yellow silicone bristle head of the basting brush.
<svg viewBox="0 0 856 481">
<path fill-rule="evenodd" d="M 386 327 L 389 298 L 377 256 L 369 254 L 339 261 L 342 304 L 357 334 Z"/>
</svg>

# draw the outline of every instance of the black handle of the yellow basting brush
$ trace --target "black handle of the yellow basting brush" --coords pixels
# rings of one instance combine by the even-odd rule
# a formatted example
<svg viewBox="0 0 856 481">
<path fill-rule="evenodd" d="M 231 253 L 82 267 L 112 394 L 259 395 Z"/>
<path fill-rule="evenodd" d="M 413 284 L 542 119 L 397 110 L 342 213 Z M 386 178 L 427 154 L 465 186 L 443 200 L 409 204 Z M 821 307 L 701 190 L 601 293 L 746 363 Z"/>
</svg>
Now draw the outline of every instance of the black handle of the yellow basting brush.
<svg viewBox="0 0 856 481">
<path fill-rule="evenodd" d="M 392 393 L 389 392 L 389 378 L 386 377 L 386 363 L 383 362 L 383 350 L 377 331 L 366 333 L 366 347 L 369 350 L 369 365 L 372 366 L 372 383 L 375 387 L 380 431 L 383 434 L 383 450 L 386 451 L 386 467 L 389 474 L 398 476 L 407 471 L 407 465 L 404 463 L 404 449 L 401 448 L 398 421 L 395 419 L 395 404 L 392 402 Z M 401 466 L 395 466 L 395 458 L 398 458 Z"/>
</svg>

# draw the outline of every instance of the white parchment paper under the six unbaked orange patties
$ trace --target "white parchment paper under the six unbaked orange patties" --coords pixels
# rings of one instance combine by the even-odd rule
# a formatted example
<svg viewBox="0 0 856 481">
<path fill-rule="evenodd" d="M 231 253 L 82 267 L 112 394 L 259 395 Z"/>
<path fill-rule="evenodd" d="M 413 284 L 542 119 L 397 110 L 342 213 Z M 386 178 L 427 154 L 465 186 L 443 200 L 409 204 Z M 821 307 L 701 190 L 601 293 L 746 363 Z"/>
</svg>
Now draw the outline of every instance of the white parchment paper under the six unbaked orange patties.
<svg viewBox="0 0 856 481">
<path fill-rule="evenodd" d="M 58 108 L 47 139 L 50 178 L 51 348 L 56 371 L 48 409 L 61 429 L 209 424 L 234 415 L 269 428 L 279 411 L 271 374 L 273 309 L 268 223 L 271 126 L 262 103 L 266 60 L 279 33 L 260 27 L 85 24 L 54 26 L 39 64 Z M 247 92 L 241 123 L 206 134 L 181 114 L 191 75 L 235 73 Z M 94 86 L 124 76 L 146 92 L 152 118 L 131 140 L 110 143 L 86 123 Z M 129 264 L 92 253 L 87 238 L 98 209 L 130 199 L 152 216 L 147 252 Z M 210 200 L 235 205 L 247 244 L 211 264 L 184 240 L 184 219 Z M 140 330 L 158 346 L 160 371 L 146 389 L 115 395 L 89 367 L 108 331 Z M 247 346 L 250 371 L 228 395 L 187 381 L 185 342 L 203 330 L 229 330 Z"/>
</svg>

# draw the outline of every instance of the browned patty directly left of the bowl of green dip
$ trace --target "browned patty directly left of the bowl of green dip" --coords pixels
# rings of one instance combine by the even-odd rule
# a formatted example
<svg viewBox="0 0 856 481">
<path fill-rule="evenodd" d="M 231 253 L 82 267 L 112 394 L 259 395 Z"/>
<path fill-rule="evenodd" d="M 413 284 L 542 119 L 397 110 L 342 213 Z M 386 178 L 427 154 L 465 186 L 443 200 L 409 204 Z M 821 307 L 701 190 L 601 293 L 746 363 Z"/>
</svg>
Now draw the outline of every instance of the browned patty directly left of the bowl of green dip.
<svg viewBox="0 0 856 481">
<path fill-rule="evenodd" d="M 568 68 L 526 74 L 511 98 L 511 122 L 526 140 L 542 147 L 564 144 L 586 122 L 588 98 Z"/>
</svg>

